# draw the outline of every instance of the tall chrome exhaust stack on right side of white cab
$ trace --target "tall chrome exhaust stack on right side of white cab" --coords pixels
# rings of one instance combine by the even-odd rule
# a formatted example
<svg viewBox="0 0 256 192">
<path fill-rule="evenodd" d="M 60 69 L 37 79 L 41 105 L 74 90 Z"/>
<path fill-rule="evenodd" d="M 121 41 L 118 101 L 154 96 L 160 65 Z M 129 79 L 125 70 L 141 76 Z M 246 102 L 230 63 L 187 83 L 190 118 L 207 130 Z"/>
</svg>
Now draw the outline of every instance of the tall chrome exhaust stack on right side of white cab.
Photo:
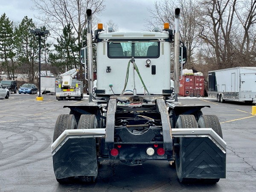
<svg viewBox="0 0 256 192">
<path fill-rule="evenodd" d="M 179 81 L 179 63 L 180 63 L 180 9 L 175 9 L 175 35 L 174 35 L 174 90 L 176 93 L 175 101 L 177 101 L 178 93 L 180 92 L 180 81 Z"/>
</svg>

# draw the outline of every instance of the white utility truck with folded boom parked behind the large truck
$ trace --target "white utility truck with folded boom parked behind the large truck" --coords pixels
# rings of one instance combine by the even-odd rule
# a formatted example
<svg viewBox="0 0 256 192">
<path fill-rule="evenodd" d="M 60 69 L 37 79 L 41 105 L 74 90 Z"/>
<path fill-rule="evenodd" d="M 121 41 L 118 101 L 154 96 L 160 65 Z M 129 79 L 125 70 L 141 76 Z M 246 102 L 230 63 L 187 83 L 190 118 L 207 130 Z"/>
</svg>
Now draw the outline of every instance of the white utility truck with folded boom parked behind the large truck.
<svg viewBox="0 0 256 192">
<path fill-rule="evenodd" d="M 77 70 L 72 69 L 61 74 L 61 79 L 56 79 L 56 99 L 63 101 L 66 98 L 74 98 L 81 100 L 83 98 L 83 82 L 78 79 L 73 79 L 76 76 Z"/>
</svg>

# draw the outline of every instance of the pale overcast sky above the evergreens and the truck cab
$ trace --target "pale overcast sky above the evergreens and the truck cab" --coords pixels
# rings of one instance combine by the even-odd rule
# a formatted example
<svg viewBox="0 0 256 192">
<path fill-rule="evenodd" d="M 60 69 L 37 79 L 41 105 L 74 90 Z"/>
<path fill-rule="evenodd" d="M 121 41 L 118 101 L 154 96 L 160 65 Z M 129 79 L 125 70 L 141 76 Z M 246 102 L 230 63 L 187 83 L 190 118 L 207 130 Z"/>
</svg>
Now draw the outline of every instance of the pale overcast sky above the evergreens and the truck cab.
<svg viewBox="0 0 256 192">
<path fill-rule="evenodd" d="M 119 31 L 143 31 L 145 18 L 149 18 L 148 8 L 154 8 L 156 0 L 105 0 L 106 9 L 99 16 L 102 23 L 113 20 L 119 26 Z M 6 13 L 13 22 L 21 22 L 24 16 L 37 22 L 34 15 L 37 11 L 31 9 L 31 0 L 0 0 L 0 15 Z"/>
</svg>

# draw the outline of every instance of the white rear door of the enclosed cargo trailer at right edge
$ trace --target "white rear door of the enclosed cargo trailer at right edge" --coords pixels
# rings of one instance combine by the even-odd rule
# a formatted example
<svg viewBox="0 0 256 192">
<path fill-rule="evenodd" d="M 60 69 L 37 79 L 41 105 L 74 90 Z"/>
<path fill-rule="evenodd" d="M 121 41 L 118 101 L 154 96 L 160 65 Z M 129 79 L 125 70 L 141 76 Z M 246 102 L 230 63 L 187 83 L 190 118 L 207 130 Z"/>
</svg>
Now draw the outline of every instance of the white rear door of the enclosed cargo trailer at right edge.
<svg viewBox="0 0 256 192">
<path fill-rule="evenodd" d="M 241 97 L 253 97 L 256 94 L 256 73 L 241 73 Z"/>
</svg>

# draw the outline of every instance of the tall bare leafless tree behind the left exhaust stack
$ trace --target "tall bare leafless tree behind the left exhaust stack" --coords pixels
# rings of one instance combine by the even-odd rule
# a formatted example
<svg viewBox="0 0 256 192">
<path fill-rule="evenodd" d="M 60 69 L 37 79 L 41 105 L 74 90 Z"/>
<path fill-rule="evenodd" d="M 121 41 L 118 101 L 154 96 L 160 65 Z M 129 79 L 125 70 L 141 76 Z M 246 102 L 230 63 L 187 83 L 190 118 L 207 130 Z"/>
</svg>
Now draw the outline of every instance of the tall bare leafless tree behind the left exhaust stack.
<svg viewBox="0 0 256 192">
<path fill-rule="evenodd" d="M 69 23 L 76 32 L 76 45 L 81 42 L 81 32 L 86 26 L 86 10 L 91 9 L 92 15 L 96 16 L 105 9 L 105 0 L 32 0 L 34 9 L 39 10 L 44 16 L 36 17 L 43 21 L 47 29 L 57 33 Z M 79 47 L 81 48 L 81 47 Z M 80 58 L 80 52 L 79 52 Z M 78 64 L 78 63 L 77 63 Z M 80 69 L 82 65 L 79 64 Z M 80 70 L 82 76 L 82 70 Z"/>
</svg>

